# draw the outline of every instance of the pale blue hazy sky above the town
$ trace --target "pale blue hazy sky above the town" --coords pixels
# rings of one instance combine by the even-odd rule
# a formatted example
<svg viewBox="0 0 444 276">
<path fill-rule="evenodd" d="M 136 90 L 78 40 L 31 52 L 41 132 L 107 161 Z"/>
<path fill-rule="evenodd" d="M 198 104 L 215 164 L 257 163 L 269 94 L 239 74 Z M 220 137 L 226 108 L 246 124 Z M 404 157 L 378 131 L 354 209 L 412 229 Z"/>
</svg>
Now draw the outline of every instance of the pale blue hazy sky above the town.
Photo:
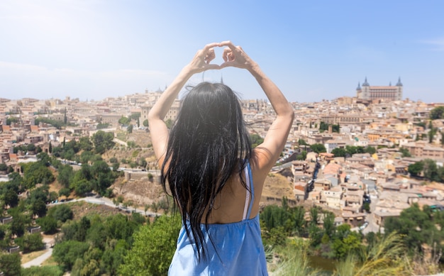
<svg viewBox="0 0 444 276">
<path fill-rule="evenodd" d="M 444 1 L 1 0 L 0 97 L 104 99 L 164 89 L 196 50 L 232 40 L 289 101 L 404 84 L 444 102 Z M 216 50 L 222 62 L 221 49 Z M 248 72 L 195 75 L 265 99 Z"/>
</svg>

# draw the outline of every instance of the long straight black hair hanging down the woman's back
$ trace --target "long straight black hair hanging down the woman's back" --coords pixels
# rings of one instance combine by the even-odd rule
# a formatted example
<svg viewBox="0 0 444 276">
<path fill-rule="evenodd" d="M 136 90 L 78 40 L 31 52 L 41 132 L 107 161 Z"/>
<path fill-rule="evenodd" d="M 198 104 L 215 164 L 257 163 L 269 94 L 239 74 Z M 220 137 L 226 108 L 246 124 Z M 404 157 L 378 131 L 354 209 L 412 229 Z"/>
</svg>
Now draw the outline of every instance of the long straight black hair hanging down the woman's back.
<svg viewBox="0 0 444 276">
<path fill-rule="evenodd" d="M 166 191 L 169 184 L 199 261 L 206 257 L 202 218 L 205 214 L 208 229 L 216 195 L 233 173 L 247 189 L 242 174 L 250 156 L 250 136 L 238 96 L 224 84 L 202 82 L 193 87 L 170 131 L 162 185 Z"/>
</svg>

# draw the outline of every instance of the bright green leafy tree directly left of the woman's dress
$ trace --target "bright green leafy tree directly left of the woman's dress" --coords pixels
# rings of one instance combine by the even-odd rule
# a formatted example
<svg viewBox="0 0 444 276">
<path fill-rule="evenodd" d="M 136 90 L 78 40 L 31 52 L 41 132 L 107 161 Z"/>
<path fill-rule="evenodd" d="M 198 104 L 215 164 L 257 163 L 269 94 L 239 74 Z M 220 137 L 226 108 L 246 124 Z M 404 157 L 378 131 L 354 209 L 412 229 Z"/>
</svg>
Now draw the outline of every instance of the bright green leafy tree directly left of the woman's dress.
<svg viewBox="0 0 444 276">
<path fill-rule="evenodd" d="M 160 216 L 134 234 L 133 248 L 118 269 L 121 275 L 166 275 L 176 250 L 179 216 Z M 147 246 L 147 245 L 150 246 Z"/>
</svg>

